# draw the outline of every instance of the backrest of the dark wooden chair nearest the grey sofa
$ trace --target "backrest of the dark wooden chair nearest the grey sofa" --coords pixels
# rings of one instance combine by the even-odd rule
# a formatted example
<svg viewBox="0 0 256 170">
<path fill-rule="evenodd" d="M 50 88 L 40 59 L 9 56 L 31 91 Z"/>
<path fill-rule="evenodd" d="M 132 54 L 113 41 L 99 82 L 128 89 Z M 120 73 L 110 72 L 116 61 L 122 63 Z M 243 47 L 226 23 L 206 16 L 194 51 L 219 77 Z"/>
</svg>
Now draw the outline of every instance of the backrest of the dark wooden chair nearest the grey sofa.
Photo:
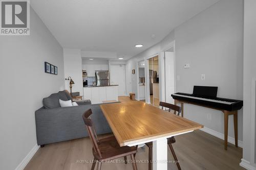
<svg viewBox="0 0 256 170">
<path fill-rule="evenodd" d="M 92 122 L 92 119 L 91 119 L 91 116 L 90 116 L 91 114 L 92 114 L 91 109 L 84 112 L 83 115 L 82 115 L 83 122 L 84 122 L 84 124 L 86 124 L 89 137 L 90 137 L 91 142 L 93 144 L 94 152 L 98 153 L 98 155 L 100 157 L 102 157 L 101 153 L 100 153 L 100 150 L 99 150 L 99 146 L 98 146 L 98 141 L 99 141 L 98 136 L 96 134 L 96 131 L 95 131 L 95 128 L 94 128 L 94 125 L 93 125 L 93 122 Z"/>
</svg>

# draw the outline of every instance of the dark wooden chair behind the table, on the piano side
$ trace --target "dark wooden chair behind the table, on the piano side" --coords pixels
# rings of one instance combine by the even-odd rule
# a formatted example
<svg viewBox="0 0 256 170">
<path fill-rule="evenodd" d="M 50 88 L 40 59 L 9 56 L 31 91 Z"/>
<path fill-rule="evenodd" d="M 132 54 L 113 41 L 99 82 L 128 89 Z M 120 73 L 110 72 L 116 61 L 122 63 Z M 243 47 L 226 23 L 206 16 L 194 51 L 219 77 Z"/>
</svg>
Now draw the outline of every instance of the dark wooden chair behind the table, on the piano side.
<svg viewBox="0 0 256 170">
<path fill-rule="evenodd" d="M 159 106 L 162 106 L 162 109 L 164 109 L 164 107 L 168 108 L 168 112 L 170 112 L 171 110 L 177 111 L 178 115 L 180 115 L 181 107 L 179 107 L 179 106 L 176 106 L 176 105 L 173 105 L 173 104 L 169 104 L 169 103 L 165 103 L 165 102 L 160 102 Z M 170 148 L 170 151 L 173 154 L 174 160 L 176 161 L 176 165 L 177 165 L 178 169 L 181 170 L 180 164 L 178 162 L 177 156 L 176 156 L 176 154 L 174 152 L 174 148 L 173 148 L 173 145 L 172 145 L 172 143 L 175 143 L 175 142 L 176 142 L 176 140 L 175 140 L 174 136 L 170 137 L 170 138 L 167 138 L 167 144 L 168 144 L 168 146 Z M 150 161 L 148 163 L 148 170 L 152 170 L 152 163 L 151 162 L 152 162 L 153 142 L 147 142 L 145 144 L 148 147 L 148 160 Z"/>
</svg>

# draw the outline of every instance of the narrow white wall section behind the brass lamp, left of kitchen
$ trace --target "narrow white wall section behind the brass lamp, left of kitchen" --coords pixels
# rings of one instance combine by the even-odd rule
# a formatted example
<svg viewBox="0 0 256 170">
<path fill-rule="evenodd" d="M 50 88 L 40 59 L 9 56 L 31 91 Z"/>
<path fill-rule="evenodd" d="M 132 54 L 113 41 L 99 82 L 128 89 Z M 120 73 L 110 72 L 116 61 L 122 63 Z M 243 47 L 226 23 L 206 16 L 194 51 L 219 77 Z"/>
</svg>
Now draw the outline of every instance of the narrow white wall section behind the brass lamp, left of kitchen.
<svg viewBox="0 0 256 170">
<path fill-rule="evenodd" d="M 82 91 L 82 58 L 81 51 L 79 49 L 63 49 L 64 56 L 64 69 L 65 69 L 65 78 L 69 76 L 75 82 L 72 86 L 72 92 L 80 92 L 80 95 L 83 94 Z M 65 88 L 70 91 L 69 81 L 65 80 Z"/>
</svg>

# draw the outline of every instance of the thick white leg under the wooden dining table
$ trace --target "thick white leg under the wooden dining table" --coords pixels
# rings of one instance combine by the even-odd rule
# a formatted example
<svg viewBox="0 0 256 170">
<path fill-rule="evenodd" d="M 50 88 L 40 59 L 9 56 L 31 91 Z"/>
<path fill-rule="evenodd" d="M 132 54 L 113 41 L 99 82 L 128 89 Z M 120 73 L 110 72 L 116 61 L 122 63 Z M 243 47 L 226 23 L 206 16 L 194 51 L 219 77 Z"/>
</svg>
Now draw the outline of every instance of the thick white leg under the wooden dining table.
<svg viewBox="0 0 256 170">
<path fill-rule="evenodd" d="M 167 139 L 153 141 L 153 170 L 167 170 Z"/>
</svg>

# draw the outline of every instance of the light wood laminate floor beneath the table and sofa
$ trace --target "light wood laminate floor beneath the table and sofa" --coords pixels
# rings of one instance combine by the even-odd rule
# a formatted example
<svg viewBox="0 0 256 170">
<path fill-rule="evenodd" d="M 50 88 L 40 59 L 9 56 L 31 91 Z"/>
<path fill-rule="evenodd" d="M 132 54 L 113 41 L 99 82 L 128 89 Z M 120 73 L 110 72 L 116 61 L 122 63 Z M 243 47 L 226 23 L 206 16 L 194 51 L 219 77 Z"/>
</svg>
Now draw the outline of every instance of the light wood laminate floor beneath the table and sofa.
<svg viewBox="0 0 256 170">
<path fill-rule="evenodd" d="M 120 102 L 131 101 L 127 96 L 119 96 Z M 97 128 L 97 127 L 96 127 Z M 84 131 L 86 129 L 84 128 Z M 108 134 L 110 135 L 110 134 Z M 105 137 L 101 135 L 99 138 Z M 176 136 L 174 150 L 184 169 L 244 169 L 239 166 L 242 158 L 242 149 L 228 143 L 228 150 L 224 150 L 224 141 L 203 131 L 197 130 L 191 133 Z M 147 163 L 141 163 L 148 158 L 146 146 L 138 148 L 136 154 L 138 169 L 148 169 Z M 52 143 L 39 148 L 28 165 L 26 170 L 89 170 L 93 159 L 92 144 L 89 137 L 74 139 L 64 142 Z M 122 160 L 120 158 L 119 160 Z M 173 156 L 168 149 L 168 159 Z M 95 168 L 96 169 L 96 168 Z M 124 163 L 103 163 L 101 169 L 133 169 L 132 164 Z M 177 169 L 176 164 L 169 163 L 168 169 Z"/>
</svg>

